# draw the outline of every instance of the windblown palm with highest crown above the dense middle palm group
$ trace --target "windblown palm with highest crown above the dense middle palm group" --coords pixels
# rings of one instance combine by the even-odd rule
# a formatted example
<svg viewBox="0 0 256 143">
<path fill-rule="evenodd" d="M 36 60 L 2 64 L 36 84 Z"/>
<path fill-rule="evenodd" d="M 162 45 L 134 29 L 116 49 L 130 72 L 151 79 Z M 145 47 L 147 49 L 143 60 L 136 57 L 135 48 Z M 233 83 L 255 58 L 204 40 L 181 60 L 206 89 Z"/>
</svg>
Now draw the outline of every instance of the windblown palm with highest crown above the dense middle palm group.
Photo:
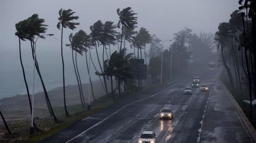
<svg viewBox="0 0 256 143">
<path fill-rule="evenodd" d="M 123 39 L 123 31 L 124 31 L 124 26 L 129 28 L 129 29 L 134 29 L 135 27 L 135 24 L 137 24 L 137 17 L 135 17 L 135 15 L 137 13 L 133 13 L 133 10 L 131 10 L 132 8 L 131 7 L 127 7 L 127 8 L 124 8 L 122 11 L 120 11 L 119 8 L 117 8 L 117 15 L 119 16 L 119 21 L 118 21 L 118 24 L 117 24 L 117 27 L 118 28 L 121 28 L 121 24 L 122 24 L 122 29 L 121 29 L 121 45 L 120 45 L 120 50 L 122 49 L 122 39 Z"/>
</svg>

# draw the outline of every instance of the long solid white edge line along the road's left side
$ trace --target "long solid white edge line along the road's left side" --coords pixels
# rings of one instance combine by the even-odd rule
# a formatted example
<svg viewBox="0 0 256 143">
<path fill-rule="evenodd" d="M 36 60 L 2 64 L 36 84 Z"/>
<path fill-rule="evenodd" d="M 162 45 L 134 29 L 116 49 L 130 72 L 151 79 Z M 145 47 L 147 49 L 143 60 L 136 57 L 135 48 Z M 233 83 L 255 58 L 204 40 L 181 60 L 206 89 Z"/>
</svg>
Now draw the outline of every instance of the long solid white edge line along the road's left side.
<svg viewBox="0 0 256 143">
<path fill-rule="evenodd" d="M 154 97 L 155 95 L 157 95 L 157 94 L 159 94 L 159 93 L 161 93 L 161 92 L 164 92 L 165 90 L 168 90 L 169 88 L 173 87 L 174 85 L 179 84 L 180 82 L 183 82 L 184 80 L 186 80 L 186 78 L 185 78 L 185 79 L 183 79 L 183 80 L 180 80 L 180 81 L 179 81 L 179 82 L 177 82 L 176 84 L 171 85 L 170 87 L 165 88 L 164 90 L 162 90 L 162 91 L 160 91 L 160 92 L 155 93 L 154 95 L 151 95 L 151 96 L 148 96 L 148 97 L 142 98 L 141 100 L 137 100 L 137 101 L 134 101 L 134 102 L 132 102 L 132 103 L 129 103 L 129 104 L 127 104 L 127 105 L 123 106 L 122 108 L 118 109 L 116 112 L 114 112 L 114 113 L 112 113 L 111 115 L 107 116 L 105 119 L 103 119 L 103 120 L 101 120 L 101 121 L 97 122 L 96 124 L 94 124 L 93 126 L 91 126 L 90 128 L 88 128 L 88 129 L 87 129 L 87 130 L 85 130 L 84 132 L 80 133 L 79 135 L 82 135 L 83 133 L 88 132 L 88 131 L 89 131 L 89 130 L 91 130 L 92 128 L 94 128 L 94 127 L 96 127 L 96 126 L 98 126 L 98 125 L 102 124 L 104 121 L 106 121 L 107 119 L 109 119 L 111 116 L 113 116 L 114 114 L 116 114 L 116 113 L 117 113 L 117 112 L 119 112 L 120 110 L 122 110 L 122 109 L 126 108 L 127 106 L 130 106 L 131 104 L 134 104 L 134 103 L 140 102 L 140 101 L 142 101 L 142 100 L 145 100 L 145 99 L 148 99 L 148 98 Z M 76 137 L 78 137 L 79 135 L 77 135 Z M 76 137 L 74 137 L 74 138 L 76 138 Z M 74 138 L 72 138 L 71 140 L 74 140 Z M 69 141 L 71 141 L 71 140 L 69 140 Z M 67 141 L 66 143 L 68 143 L 69 141 Z"/>
</svg>

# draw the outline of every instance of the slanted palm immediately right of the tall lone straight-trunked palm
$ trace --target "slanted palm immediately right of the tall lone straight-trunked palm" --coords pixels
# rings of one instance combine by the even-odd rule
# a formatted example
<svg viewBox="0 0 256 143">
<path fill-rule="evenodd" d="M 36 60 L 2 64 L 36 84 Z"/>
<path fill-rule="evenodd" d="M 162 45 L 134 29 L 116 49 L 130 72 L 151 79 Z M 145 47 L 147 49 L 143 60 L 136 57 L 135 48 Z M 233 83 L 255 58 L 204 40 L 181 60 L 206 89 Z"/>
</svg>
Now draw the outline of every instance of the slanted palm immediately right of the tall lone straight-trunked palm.
<svg viewBox="0 0 256 143">
<path fill-rule="evenodd" d="M 73 60 L 74 71 L 75 71 L 75 74 L 76 74 L 76 80 L 78 82 L 78 89 L 79 89 L 79 94 L 80 94 L 81 105 L 83 107 L 85 107 L 84 106 L 84 104 L 85 104 L 84 100 L 82 99 L 81 85 L 80 85 L 80 82 L 79 82 L 79 79 L 78 79 L 77 69 L 76 69 L 76 66 L 75 66 L 75 63 L 74 63 L 74 52 L 73 52 L 73 51 L 75 51 L 76 53 L 78 52 L 79 54 L 82 55 L 83 39 L 81 37 L 78 37 L 77 33 L 74 36 L 73 36 L 73 33 L 71 33 L 69 35 L 69 42 L 70 42 L 70 44 L 66 44 L 66 46 L 70 47 L 71 50 L 72 50 L 72 60 Z"/>
</svg>

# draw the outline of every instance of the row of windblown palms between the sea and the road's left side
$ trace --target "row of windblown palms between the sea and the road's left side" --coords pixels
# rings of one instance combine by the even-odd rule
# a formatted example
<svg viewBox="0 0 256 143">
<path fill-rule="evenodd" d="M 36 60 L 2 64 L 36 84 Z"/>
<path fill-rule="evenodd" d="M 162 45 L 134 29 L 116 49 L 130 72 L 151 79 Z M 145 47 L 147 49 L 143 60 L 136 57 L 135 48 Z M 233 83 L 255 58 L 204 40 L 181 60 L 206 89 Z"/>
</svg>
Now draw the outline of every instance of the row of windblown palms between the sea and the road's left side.
<svg viewBox="0 0 256 143">
<path fill-rule="evenodd" d="M 59 10 L 59 18 L 58 18 L 59 22 L 57 24 L 57 28 L 61 30 L 63 98 L 64 98 L 65 114 L 67 117 L 70 115 L 68 113 L 68 109 L 66 106 L 65 73 L 64 73 L 64 57 L 63 57 L 63 43 L 64 43 L 63 30 L 64 28 L 69 28 L 71 30 L 74 30 L 76 29 L 76 26 L 79 25 L 79 22 L 74 22 L 75 20 L 79 19 L 79 16 L 74 16 L 74 14 L 75 12 L 71 9 L 64 10 L 61 8 Z M 135 17 L 137 13 L 134 13 L 134 11 L 132 11 L 130 7 L 124 8 L 122 11 L 120 11 L 120 9 L 118 8 L 117 14 L 119 16 L 118 24 L 114 24 L 114 22 L 112 21 L 106 21 L 103 23 L 101 20 L 99 20 L 95 22 L 92 26 L 90 26 L 91 32 L 89 34 L 84 32 L 83 30 L 79 30 L 75 34 L 71 33 L 69 35 L 69 43 L 66 44 L 66 47 L 71 48 L 71 51 L 72 51 L 74 72 L 78 82 L 78 90 L 80 93 L 81 105 L 83 107 L 86 106 L 86 102 L 84 100 L 82 81 L 79 74 L 77 55 L 83 55 L 85 53 L 87 72 L 89 74 L 88 60 L 91 59 L 92 61 L 92 57 L 91 57 L 91 53 L 88 55 L 87 52 L 94 47 L 97 55 L 97 61 L 100 67 L 100 71 L 97 71 L 97 68 L 92 61 L 92 64 L 96 71 L 95 74 L 99 76 L 102 87 L 104 88 L 107 96 L 109 96 L 109 92 L 108 92 L 106 80 L 111 80 L 111 93 L 112 93 L 111 98 L 115 100 L 115 94 L 113 89 L 113 77 L 116 80 L 118 80 L 118 90 L 119 90 L 119 98 L 120 98 L 121 97 L 121 90 L 120 90 L 121 81 L 125 81 L 127 78 L 130 78 L 130 79 L 133 78 L 133 76 L 129 73 L 128 65 L 129 65 L 130 59 L 136 58 L 135 48 L 138 49 L 138 52 L 137 52 L 138 59 L 139 59 L 139 49 L 140 49 L 140 58 L 142 59 L 142 48 L 145 49 L 145 45 L 152 41 L 151 35 L 147 31 L 147 29 L 142 27 L 140 28 L 139 32 L 134 31 L 134 29 L 137 27 L 136 26 L 137 17 Z M 46 32 L 48 25 L 44 23 L 45 23 L 45 20 L 42 18 L 39 18 L 38 14 L 33 14 L 28 19 L 22 20 L 15 24 L 15 27 L 17 30 L 15 35 L 19 39 L 20 63 L 23 71 L 23 78 L 26 86 L 31 114 L 32 114 L 32 105 L 31 105 L 31 99 L 30 99 L 30 91 L 28 88 L 27 80 L 26 80 L 26 74 L 25 74 L 23 63 L 22 63 L 22 54 L 21 54 L 21 41 L 26 41 L 26 40 L 30 41 L 32 59 L 35 61 L 35 68 L 38 73 L 38 76 L 40 77 L 41 84 L 43 86 L 46 104 L 49 109 L 50 116 L 53 116 L 54 121 L 58 122 L 58 119 L 56 118 L 55 113 L 53 111 L 51 101 L 49 99 L 48 93 L 45 88 L 45 84 L 43 82 L 43 79 L 40 73 L 39 64 L 35 56 L 34 39 L 36 37 L 40 37 L 43 39 L 45 38 L 42 34 Z M 121 33 L 116 31 L 117 27 L 121 28 Z M 134 48 L 134 53 L 126 54 L 127 41 L 130 43 L 130 47 Z M 116 44 L 118 46 L 118 51 L 114 51 L 113 53 L 111 53 L 111 45 L 116 45 Z M 102 47 L 101 49 L 102 61 L 100 61 L 99 54 L 98 54 L 98 50 L 100 50 L 99 49 L 100 47 Z M 145 51 L 144 51 L 144 54 L 146 57 Z M 103 77 L 103 83 L 102 83 L 101 77 Z M 91 85 L 91 90 L 92 90 L 92 96 L 95 99 L 91 77 L 89 77 L 89 79 L 90 79 L 89 84 Z M 141 81 L 138 80 L 138 84 L 139 85 L 142 84 L 142 80 Z M 40 132 L 40 129 L 36 128 L 35 122 L 34 122 L 34 127 L 36 131 Z M 8 129 L 8 126 L 7 126 L 7 129 Z"/>
</svg>

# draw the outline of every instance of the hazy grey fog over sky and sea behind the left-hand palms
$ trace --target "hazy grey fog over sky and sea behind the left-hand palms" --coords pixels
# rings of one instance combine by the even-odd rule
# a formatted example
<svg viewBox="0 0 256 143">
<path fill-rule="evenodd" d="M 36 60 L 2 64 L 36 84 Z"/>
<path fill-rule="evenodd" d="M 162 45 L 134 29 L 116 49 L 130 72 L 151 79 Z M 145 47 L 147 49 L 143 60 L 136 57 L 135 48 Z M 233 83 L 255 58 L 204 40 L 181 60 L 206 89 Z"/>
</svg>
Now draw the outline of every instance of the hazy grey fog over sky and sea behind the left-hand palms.
<svg viewBox="0 0 256 143">
<path fill-rule="evenodd" d="M 21 66 L 18 53 L 18 37 L 15 37 L 15 23 L 30 17 L 34 13 L 38 13 L 40 18 L 45 19 L 48 25 L 47 34 L 54 34 L 54 37 L 61 39 L 61 31 L 57 29 L 58 11 L 60 8 L 71 8 L 76 16 L 79 16 L 77 22 L 80 23 L 77 28 L 72 31 L 64 29 L 63 42 L 69 43 L 68 36 L 71 32 L 78 32 L 80 29 L 87 34 L 91 31 L 91 26 L 97 20 L 118 22 L 116 9 L 121 10 L 126 7 L 132 7 L 137 13 L 138 24 L 136 31 L 140 27 L 145 27 L 150 34 L 156 34 L 161 40 L 173 39 L 173 33 L 188 27 L 193 33 L 200 32 L 215 33 L 218 30 L 218 24 L 226 21 L 230 17 L 230 13 L 238 8 L 238 2 L 234 0 L 1 0 L 0 1 L 0 98 L 12 96 L 15 94 L 25 93 L 25 90 L 16 90 L 16 87 L 24 88 L 24 82 L 21 72 Z M 117 29 L 118 32 L 121 29 Z M 127 44 L 129 45 L 129 44 Z M 165 49 L 170 44 L 165 44 Z M 129 47 L 129 46 L 127 46 Z M 67 84 L 76 84 L 71 61 L 71 50 L 64 46 L 64 60 Z M 28 84 L 32 84 L 33 61 L 31 58 L 30 42 L 21 42 L 23 62 L 26 69 Z M 111 51 L 117 50 L 116 47 Z M 128 52 L 132 49 L 128 48 Z M 101 55 L 101 50 L 99 51 Z M 46 80 L 46 88 L 48 90 L 62 85 L 61 80 L 61 55 L 60 42 L 52 37 L 39 39 L 36 46 L 36 53 L 40 70 L 43 78 Z M 92 50 L 93 60 L 96 62 L 96 52 Z M 100 57 L 101 58 L 101 57 Z M 102 61 L 102 60 L 101 60 Z M 82 74 L 82 82 L 87 83 L 87 71 L 85 58 L 79 56 L 78 62 Z M 98 69 L 99 70 L 99 69 Z M 92 70 L 94 73 L 94 70 Z M 49 77 L 51 75 L 52 77 Z M 97 76 L 92 74 L 93 80 Z M 49 85 L 56 77 L 54 83 Z M 48 78 L 48 79 L 47 79 Z M 50 79 L 49 79 L 50 78 Z M 36 80 L 38 88 L 36 92 L 41 91 L 39 80 Z M 24 88 L 25 89 L 25 88 Z M 4 92 L 3 92 L 4 91 Z"/>
</svg>

